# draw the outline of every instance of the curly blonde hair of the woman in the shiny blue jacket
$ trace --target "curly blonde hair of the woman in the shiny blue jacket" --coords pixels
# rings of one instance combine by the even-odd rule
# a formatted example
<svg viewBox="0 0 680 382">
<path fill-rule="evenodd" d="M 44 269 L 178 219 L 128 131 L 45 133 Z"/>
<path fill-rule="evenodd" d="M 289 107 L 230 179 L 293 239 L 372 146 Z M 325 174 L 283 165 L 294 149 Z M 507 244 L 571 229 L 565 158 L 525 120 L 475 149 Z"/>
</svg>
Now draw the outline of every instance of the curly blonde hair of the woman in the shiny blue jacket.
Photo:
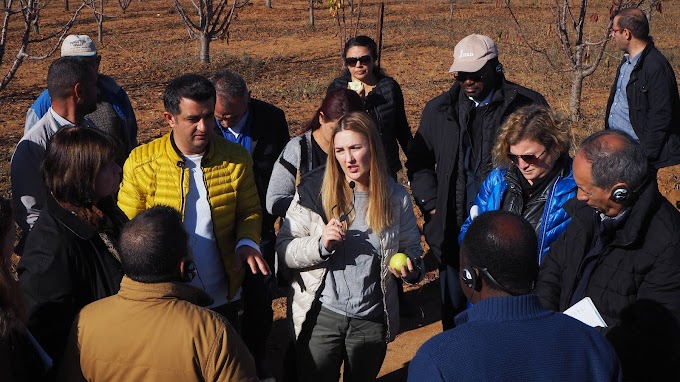
<svg viewBox="0 0 680 382">
<path fill-rule="evenodd" d="M 493 149 L 494 166 L 504 168 L 512 166 L 512 161 L 508 159 L 510 146 L 525 139 L 543 145 L 553 158 L 568 153 L 573 140 L 571 127 L 561 114 L 546 106 L 524 106 L 512 113 L 503 123 Z"/>
</svg>

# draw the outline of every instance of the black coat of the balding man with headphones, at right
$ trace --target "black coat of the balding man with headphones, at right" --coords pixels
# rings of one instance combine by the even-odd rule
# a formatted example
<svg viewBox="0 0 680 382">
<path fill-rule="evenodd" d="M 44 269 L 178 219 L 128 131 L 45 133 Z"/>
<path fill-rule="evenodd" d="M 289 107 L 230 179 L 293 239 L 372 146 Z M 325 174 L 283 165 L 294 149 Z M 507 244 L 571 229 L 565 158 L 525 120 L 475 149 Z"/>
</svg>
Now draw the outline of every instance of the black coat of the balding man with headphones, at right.
<svg viewBox="0 0 680 382">
<path fill-rule="evenodd" d="M 608 326 L 617 325 L 621 310 L 639 299 L 659 302 L 680 319 L 680 212 L 659 193 L 655 180 L 631 208 L 595 260 L 585 295 Z M 596 229 L 596 212 L 585 202 L 572 199 L 564 209 L 571 223 L 543 259 L 535 289 L 543 305 L 555 311 L 569 308 Z"/>
</svg>

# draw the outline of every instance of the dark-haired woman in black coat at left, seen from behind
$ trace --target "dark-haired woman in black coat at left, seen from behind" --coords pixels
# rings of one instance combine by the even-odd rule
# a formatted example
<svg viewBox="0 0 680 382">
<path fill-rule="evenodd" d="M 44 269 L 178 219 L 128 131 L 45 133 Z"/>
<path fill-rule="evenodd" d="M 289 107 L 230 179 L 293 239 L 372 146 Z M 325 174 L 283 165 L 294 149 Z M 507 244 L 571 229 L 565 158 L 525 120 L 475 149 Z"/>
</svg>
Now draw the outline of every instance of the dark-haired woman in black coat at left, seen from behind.
<svg viewBox="0 0 680 382">
<path fill-rule="evenodd" d="M 55 363 L 80 309 L 120 289 L 115 247 L 127 218 L 112 197 L 121 179 L 115 159 L 114 141 L 96 129 L 63 128 L 47 147 L 47 208 L 17 271 L 28 328 Z"/>
</svg>

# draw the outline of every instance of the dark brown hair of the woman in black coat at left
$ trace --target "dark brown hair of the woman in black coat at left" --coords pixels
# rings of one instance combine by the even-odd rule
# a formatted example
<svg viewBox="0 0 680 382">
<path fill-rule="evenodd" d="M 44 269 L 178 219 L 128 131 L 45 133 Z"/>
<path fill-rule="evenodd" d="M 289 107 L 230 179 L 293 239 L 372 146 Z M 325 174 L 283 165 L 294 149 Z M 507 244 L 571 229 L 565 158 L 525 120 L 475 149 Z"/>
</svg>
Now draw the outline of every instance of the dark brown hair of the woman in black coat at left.
<svg viewBox="0 0 680 382">
<path fill-rule="evenodd" d="M 45 186 L 55 199 L 89 207 L 96 202 L 97 175 L 116 160 L 114 138 L 97 129 L 68 126 L 47 144 L 42 162 Z"/>
</svg>

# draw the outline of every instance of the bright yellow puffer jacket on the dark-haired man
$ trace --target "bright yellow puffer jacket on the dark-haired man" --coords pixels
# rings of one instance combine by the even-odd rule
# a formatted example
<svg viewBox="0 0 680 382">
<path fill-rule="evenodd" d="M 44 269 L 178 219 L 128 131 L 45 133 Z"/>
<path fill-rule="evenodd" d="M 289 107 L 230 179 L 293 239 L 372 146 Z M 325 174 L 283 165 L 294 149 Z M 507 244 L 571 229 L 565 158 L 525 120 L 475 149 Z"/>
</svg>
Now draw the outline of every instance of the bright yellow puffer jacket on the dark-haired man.
<svg viewBox="0 0 680 382">
<path fill-rule="evenodd" d="M 201 162 L 212 209 L 217 247 L 229 276 L 229 299 L 241 287 L 244 267 L 232 270 L 236 243 L 260 243 L 262 210 L 248 151 L 226 139 L 213 137 Z M 171 133 L 139 146 L 123 166 L 118 206 L 130 218 L 156 205 L 176 208 L 184 216 L 189 192 L 189 169 Z"/>
</svg>

